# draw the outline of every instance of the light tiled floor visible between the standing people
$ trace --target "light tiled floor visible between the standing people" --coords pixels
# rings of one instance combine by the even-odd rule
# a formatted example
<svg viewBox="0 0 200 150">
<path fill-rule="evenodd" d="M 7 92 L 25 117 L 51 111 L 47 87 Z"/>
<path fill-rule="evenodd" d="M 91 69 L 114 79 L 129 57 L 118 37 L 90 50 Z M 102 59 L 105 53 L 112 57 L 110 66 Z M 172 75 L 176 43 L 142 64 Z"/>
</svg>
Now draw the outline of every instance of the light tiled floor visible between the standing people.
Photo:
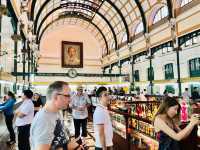
<svg viewBox="0 0 200 150">
<path fill-rule="evenodd" d="M 72 116 L 69 114 L 64 118 L 65 126 L 69 129 L 70 134 L 73 138 L 74 136 L 74 123 Z M 88 122 L 88 136 L 86 138 L 86 144 L 89 147 L 89 150 L 94 150 L 94 137 L 93 137 L 93 125 L 92 122 Z M 17 144 L 8 147 L 6 141 L 8 140 L 8 131 L 5 125 L 5 122 L 0 121 L 0 150 L 18 150 Z"/>
</svg>

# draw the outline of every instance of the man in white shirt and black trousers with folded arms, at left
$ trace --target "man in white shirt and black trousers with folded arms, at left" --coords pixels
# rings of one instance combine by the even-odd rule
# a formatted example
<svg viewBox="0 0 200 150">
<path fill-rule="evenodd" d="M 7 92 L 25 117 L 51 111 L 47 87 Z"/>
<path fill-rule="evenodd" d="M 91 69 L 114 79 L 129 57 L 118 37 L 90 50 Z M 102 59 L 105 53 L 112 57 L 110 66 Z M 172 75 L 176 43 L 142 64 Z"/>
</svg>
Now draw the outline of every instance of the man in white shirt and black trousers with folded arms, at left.
<svg viewBox="0 0 200 150">
<path fill-rule="evenodd" d="M 30 150 L 30 127 L 34 116 L 34 105 L 31 100 L 33 92 L 31 90 L 23 91 L 23 103 L 16 110 L 15 124 L 18 128 L 18 148 L 19 150 Z"/>
</svg>

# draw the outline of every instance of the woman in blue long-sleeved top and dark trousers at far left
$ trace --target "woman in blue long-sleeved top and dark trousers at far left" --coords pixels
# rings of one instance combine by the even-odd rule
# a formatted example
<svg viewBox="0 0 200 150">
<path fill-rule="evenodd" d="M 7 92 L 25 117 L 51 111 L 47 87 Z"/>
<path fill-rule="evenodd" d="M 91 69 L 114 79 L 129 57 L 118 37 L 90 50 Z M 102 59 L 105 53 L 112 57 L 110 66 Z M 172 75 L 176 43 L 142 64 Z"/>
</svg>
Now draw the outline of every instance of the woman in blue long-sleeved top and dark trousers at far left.
<svg viewBox="0 0 200 150">
<path fill-rule="evenodd" d="M 0 110 L 3 110 L 4 112 L 6 126 L 10 134 L 10 140 L 7 141 L 7 144 L 9 145 L 15 143 L 15 132 L 13 129 L 13 118 L 14 118 L 13 107 L 15 102 L 16 102 L 15 95 L 11 91 L 9 91 L 8 94 L 6 95 L 5 102 L 0 104 Z"/>
</svg>

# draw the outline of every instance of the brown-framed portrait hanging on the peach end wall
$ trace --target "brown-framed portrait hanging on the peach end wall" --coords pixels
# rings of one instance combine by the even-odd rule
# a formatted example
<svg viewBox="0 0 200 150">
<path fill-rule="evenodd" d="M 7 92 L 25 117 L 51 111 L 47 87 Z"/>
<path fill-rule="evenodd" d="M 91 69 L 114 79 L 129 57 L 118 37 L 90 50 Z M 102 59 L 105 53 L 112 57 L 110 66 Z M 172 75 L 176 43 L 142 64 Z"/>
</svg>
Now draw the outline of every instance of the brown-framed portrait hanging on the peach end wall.
<svg viewBox="0 0 200 150">
<path fill-rule="evenodd" d="M 83 43 L 62 41 L 62 67 L 83 68 Z"/>
</svg>

